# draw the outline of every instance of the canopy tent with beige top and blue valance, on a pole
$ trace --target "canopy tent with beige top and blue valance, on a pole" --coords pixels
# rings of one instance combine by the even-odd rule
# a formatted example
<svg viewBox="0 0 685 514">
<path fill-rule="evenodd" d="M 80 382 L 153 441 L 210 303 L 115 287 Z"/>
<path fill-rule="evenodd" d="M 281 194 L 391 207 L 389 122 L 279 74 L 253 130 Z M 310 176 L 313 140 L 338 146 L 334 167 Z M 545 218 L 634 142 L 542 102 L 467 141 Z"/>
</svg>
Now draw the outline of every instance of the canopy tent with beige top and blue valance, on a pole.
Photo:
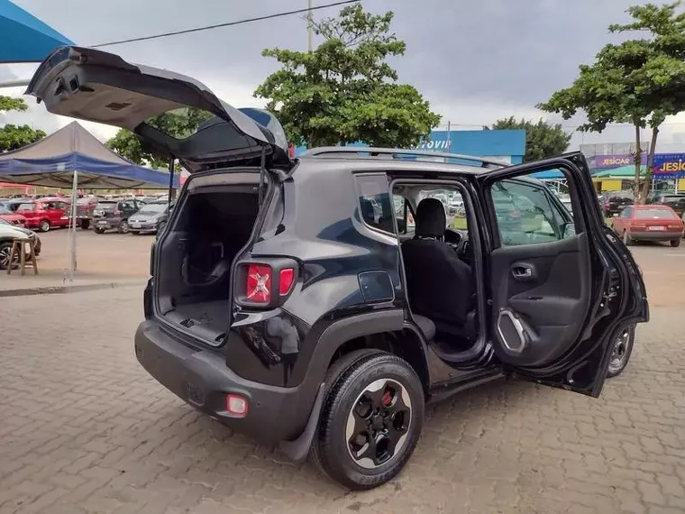
<svg viewBox="0 0 685 514">
<path fill-rule="evenodd" d="M 178 188 L 178 175 L 126 161 L 72 122 L 56 133 L 15 151 L 0 154 L 0 181 L 48 188 L 71 188 L 69 280 L 76 271 L 77 190 Z"/>
</svg>

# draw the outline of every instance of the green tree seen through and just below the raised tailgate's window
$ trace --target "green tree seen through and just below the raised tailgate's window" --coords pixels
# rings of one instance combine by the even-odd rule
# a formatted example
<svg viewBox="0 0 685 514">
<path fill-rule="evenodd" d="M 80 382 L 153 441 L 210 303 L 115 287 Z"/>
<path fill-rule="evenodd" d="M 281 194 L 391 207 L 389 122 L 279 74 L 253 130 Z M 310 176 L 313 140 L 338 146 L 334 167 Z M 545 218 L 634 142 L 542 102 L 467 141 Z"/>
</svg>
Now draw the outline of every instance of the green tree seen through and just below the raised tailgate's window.
<svg viewBox="0 0 685 514">
<path fill-rule="evenodd" d="M 177 139 L 185 139 L 195 133 L 197 127 L 211 117 L 212 114 L 206 111 L 187 108 L 155 116 L 147 120 L 146 123 Z M 130 130 L 119 130 L 105 144 L 123 158 L 140 166 L 150 166 L 157 169 L 169 168 L 169 161 L 160 159 L 151 151 L 145 150 L 142 147 L 140 137 Z"/>
</svg>

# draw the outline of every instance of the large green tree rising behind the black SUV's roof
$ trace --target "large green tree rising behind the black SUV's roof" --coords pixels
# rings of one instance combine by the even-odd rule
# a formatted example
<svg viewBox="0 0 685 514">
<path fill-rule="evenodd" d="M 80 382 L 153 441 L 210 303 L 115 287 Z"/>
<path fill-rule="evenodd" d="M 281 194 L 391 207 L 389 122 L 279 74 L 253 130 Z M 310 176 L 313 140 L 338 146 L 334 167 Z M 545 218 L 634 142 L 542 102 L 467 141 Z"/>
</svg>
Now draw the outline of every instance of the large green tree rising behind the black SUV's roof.
<svg viewBox="0 0 685 514">
<path fill-rule="evenodd" d="M 387 62 L 406 48 L 390 32 L 392 18 L 392 12 L 375 15 L 361 5 L 347 6 L 337 18 L 309 19 L 324 40 L 315 50 L 262 51 L 281 68 L 254 96 L 269 100 L 267 108 L 290 142 L 310 148 L 358 141 L 410 147 L 440 123 L 415 87 L 397 82 Z"/>
</svg>

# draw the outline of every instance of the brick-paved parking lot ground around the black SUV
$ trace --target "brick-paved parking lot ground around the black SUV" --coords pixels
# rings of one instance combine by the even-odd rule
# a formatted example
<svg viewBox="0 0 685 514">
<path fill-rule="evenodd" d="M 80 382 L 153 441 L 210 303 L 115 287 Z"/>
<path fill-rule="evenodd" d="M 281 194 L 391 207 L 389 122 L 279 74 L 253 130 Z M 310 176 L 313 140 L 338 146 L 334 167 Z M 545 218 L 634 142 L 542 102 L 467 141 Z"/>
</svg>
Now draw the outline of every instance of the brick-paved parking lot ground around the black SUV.
<svg viewBox="0 0 685 514">
<path fill-rule="evenodd" d="M 62 273 L 66 235 L 41 234 L 43 276 Z M 685 246 L 633 247 L 652 321 L 600 399 L 517 381 L 470 390 L 428 409 L 396 480 L 349 493 L 142 370 L 132 335 L 152 239 L 79 232 L 79 273 L 121 287 L 0 298 L 0 512 L 685 511 Z"/>
</svg>

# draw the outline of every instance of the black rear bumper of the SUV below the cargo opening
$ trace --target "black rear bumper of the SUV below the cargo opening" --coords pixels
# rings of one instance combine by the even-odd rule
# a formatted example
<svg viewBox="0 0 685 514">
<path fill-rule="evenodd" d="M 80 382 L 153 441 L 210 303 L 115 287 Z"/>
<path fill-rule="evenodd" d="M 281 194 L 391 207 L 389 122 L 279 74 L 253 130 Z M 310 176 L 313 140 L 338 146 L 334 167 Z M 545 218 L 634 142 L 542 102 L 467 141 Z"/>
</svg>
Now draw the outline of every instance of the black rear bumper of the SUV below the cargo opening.
<svg viewBox="0 0 685 514">
<path fill-rule="evenodd" d="M 302 407 L 298 401 L 308 400 L 302 398 L 300 388 L 246 381 L 226 366 L 223 353 L 180 343 L 153 321 L 138 326 L 135 353 L 142 367 L 180 399 L 261 443 L 295 439 L 306 427 L 311 408 L 298 408 Z M 248 399 L 245 417 L 236 418 L 226 410 L 228 393 Z"/>
</svg>

